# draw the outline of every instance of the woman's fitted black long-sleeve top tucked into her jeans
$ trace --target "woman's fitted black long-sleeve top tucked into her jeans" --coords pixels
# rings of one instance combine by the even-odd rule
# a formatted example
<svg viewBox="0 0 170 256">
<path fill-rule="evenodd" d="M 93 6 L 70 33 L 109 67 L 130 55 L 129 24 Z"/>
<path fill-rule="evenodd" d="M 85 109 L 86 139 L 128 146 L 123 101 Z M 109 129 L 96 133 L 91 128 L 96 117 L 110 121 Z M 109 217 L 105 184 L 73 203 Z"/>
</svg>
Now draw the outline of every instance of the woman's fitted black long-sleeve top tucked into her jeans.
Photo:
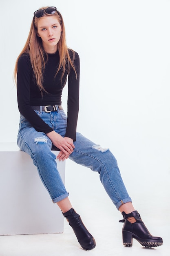
<svg viewBox="0 0 170 256">
<path fill-rule="evenodd" d="M 69 53 L 70 55 L 72 54 L 71 51 Z M 46 92 L 43 91 L 41 95 L 34 78 L 29 54 L 22 54 L 18 61 L 17 74 L 18 109 L 35 130 L 44 133 L 53 131 L 53 128 L 46 124 L 31 106 L 62 105 L 62 90 L 68 78 L 67 128 L 65 136 L 75 140 L 79 111 L 79 56 L 75 52 L 74 65 L 77 79 L 73 68 L 71 68 L 69 74 L 65 71 L 62 81 L 62 68 L 55 77 L 59 61 L 58 51 L 55 54 L 48 54 L 48 61 L 43 73 L 43 87 Z"/>
</svg>

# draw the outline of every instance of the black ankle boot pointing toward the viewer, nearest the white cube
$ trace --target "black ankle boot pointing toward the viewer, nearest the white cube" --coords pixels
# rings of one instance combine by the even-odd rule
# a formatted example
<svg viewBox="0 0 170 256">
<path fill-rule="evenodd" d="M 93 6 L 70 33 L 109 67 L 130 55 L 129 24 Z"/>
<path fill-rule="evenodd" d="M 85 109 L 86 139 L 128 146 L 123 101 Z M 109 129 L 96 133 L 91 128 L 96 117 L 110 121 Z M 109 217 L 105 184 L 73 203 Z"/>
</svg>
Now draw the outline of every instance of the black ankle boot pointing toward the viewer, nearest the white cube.
<svg viewBox="0 0 170 256">
<path fill-rule="evenodd" d="M 62 213 L 64 217 L 68 220 L 69 225 L 72 227 L 79 244 L 85 250 L 92 250 L 96 246 L 95 239 L 88 232 L 86 227 L 84 226 L 80 216 L 75 212 L 73 208 L 71 208 L 66 213 Z"/>
</svg>

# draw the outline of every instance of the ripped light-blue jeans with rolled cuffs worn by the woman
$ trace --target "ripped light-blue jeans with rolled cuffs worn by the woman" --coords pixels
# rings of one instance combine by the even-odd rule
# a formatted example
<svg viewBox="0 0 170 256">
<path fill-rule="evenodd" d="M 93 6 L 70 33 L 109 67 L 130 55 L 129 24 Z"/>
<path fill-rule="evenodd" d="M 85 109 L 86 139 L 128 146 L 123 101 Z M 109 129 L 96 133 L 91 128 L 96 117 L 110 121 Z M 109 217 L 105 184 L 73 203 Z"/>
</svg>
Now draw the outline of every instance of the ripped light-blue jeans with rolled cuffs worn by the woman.
<svg viewBox="0 0 170 256">
<path fill-rule="evenodd" d="M 64 137 L 67 125 L 64 110 L 49 113 L 34 111 Z M 56 203 L 68 197 L 69 193 L 57 170 L 56 156 L 51 151 L 51 140 L 44 132 L 37 132 L 23 115 L 20 115 L 17 143 L 20 150 L 28 153 L 33 159 L 53 202 Z M 117 161 L 109 149 L 96 145 L 78 132 L 74 145 L 75 149 L 69 158 L 77 164 L 89 167 L 92 171 L 99 173 L 100 180 L 117 209 L 121 204 L 132 202 L 121 178 Z"/>
</svg>

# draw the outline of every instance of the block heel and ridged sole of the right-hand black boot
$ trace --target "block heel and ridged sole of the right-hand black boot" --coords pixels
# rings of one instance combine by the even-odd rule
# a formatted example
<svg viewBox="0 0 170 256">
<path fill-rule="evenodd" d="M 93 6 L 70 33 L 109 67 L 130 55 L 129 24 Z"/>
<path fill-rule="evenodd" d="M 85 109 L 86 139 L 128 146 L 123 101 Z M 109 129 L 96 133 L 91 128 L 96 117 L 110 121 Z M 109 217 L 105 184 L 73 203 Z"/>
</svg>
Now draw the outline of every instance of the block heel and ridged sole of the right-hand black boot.
<svg viewBox="0 0 170 256">
<path fill-rule="evenodd" d="M 132 246 L 132 240 L 133 238 L 136 239 L 142 246 L 146 247 L 146 248 L 151 248 L 151 247 L 158 247 L 163 245 L 163 241 L 162 240 L 153 240 L 153 239 L 141 239 L 138 236 L 135 236 L 133 233 L 129 232 L 129 231 L 123 231 L 122 232 L 123 235 L 123 245 L 125 245 L 126 247 L 131 247 Z"/>
</svg>

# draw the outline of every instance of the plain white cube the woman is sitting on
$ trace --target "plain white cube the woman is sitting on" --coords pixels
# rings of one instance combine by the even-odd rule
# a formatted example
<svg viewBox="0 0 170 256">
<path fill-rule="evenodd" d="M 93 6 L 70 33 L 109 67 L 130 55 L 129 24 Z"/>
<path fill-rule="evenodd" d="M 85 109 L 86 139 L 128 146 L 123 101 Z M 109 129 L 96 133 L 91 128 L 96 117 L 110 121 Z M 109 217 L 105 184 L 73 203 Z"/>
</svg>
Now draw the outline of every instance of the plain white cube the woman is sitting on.
<svg viewBox="0 0 170 256">
<path fill-rule="evenodd" d="M 65 161 L 56 162 L 64 182 Z M 52 202 L 31 157 L 15 143 L 0 143 L 0 163 L 0 235 L 62 233 L 62 212 Z"/>
</svg>

